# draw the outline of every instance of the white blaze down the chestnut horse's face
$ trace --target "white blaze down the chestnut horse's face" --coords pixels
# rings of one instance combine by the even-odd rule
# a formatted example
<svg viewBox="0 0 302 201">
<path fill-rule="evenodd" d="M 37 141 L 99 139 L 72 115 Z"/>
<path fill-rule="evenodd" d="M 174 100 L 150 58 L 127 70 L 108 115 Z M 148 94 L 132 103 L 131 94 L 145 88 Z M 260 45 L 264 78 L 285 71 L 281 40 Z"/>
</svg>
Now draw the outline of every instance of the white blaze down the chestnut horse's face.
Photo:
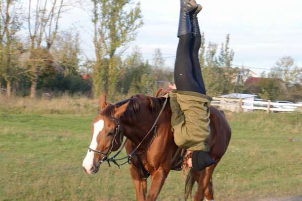
<svg viewBox="0 0 302 201">
<path fill-rule="evenodd" d="M 97 137 L 99 133 L 103 130 L 104 128 L 104 120 L 99 120 L 98 122 L 94 123 L 94 132 L 93 132 L 93 137 L 92 141 L 90 144 L 90 148 L 96 150 L 98 147 L 98 142 L 97 142 Z M 88 150 L 86 157 L 83 160 L 83 168 L 87 171 L 88 174 L 92 174 L 91 169 L 93 167 L 93 160 L 94 160 L 94 152 L 91 152 Z"/>
</svg>

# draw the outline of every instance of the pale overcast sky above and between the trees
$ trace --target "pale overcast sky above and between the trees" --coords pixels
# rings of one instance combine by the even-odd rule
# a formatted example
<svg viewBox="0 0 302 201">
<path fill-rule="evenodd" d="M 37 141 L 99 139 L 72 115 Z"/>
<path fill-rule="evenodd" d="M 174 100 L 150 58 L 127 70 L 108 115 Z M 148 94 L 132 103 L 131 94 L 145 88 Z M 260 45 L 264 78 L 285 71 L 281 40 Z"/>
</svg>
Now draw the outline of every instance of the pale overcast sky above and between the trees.
<svg viewBox="0 0 302 201">
<path fill-rule="evenodd" d="M 302 1 L 300 0 L 217 0 L 198 1 L 203 6 L 199 15 L 206 43 L 222 43 L 231 35 L 235 65 L 270 69 L 282 56 L 292 56 L 302 66 Z M 154 48 L 164 57 L 176 53 L 179 1 L 141 0 L 145 25 L 132 45 L 141 47 L 144 58 L 151 59 Z M 84 6 L 89 9 L 89 7 Z M 84 53 L 93 57 L 92 23 L 89 12 L 80 9 L 65 14 L 61 28 L 74 24 L 80 31 Z M 130 48 L 127 52 L 131 52 Z M 168 66 L 175 58 L 167 58 Z M 251 69 L 256 73 L 263 70 Z"/>
</svg>

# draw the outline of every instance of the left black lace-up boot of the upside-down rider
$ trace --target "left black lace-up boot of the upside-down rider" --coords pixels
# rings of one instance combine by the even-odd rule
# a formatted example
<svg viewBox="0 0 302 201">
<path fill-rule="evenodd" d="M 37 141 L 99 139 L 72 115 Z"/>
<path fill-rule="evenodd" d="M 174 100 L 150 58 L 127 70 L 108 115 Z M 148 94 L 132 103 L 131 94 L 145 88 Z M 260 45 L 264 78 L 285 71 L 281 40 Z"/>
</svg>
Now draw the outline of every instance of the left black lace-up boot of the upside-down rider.
<svg viewBox="0 0 302 201">
<path fill-rule="evenodd" d="M 178 28 L 178 37 L 192 33 L 191 15 L 198 8 L 195 0 L 181 0 L 181 12 Z"/>
</svg>

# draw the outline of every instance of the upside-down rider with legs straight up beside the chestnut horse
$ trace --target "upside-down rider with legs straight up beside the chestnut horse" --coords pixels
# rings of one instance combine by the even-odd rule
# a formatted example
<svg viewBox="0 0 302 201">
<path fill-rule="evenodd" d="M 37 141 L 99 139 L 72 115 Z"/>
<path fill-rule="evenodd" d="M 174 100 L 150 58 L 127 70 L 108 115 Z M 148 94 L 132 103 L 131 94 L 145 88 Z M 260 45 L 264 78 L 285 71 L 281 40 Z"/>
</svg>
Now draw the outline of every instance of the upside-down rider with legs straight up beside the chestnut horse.
<svg viewBox="0 0 302 201">
<path fill-rule="evenodd" d="M 177 90 L 170 93 L 171 124 L 175 143 L 192 154 L 189 167 L 203 170 L 215 162 L 209 156 L 210 102 L 206 96 L 198 53 L 201 34 L 197 14 L 202 7 L 195 0 L 180 0 L 179 44 L 174 79 Z"/>
</svg>

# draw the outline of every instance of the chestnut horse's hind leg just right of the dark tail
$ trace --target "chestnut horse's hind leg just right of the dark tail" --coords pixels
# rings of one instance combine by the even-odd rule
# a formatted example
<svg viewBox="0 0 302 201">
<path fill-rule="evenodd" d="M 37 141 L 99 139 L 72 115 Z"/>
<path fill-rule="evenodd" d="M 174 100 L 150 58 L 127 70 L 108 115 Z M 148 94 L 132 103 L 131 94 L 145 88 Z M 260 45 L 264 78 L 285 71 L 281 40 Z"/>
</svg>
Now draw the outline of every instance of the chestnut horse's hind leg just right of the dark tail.
<svg viewBox="0 0 302 201">
<path fill-rule="evenodd" d="M 194 195 L 194 201 L 203 200 L 205 191 L 208 188 L 208 185 L 210 183 L 214 168 L 215 168 L 215 164 L 202 170 L 199 181 L 198 181 L 198 189 Z"/>
</svg>

